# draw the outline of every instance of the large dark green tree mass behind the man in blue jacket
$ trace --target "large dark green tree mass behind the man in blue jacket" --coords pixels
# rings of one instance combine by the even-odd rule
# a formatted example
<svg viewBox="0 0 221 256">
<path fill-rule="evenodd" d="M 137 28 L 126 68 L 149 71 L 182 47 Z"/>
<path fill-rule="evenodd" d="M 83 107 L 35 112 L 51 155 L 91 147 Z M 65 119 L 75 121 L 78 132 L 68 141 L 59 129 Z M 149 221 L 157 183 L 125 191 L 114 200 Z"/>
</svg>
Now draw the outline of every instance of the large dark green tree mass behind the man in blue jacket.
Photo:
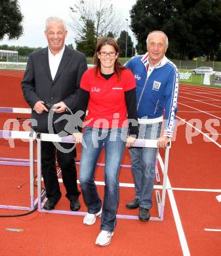
<svg viewBox="0 0 221 256">
<path fill-rule="evenodd" d="M 163 30 L 169 37 L 167 54 L 193 58 L 212 52 L 221 41 L 221 0 L 137 0 L 131 10 L 131 29 L 138 53 L 146 51 L 146 37 Z"/>
</svg>

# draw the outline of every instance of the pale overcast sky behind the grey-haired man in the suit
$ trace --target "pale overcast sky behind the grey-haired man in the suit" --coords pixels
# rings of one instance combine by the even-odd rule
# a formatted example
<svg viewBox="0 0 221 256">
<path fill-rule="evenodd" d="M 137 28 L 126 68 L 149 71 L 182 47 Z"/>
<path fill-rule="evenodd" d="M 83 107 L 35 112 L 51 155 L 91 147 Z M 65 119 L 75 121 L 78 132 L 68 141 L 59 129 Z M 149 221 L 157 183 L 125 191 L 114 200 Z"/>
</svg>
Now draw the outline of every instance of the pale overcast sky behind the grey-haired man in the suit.
<svg viewBox="0 0 221 256">
<path fill-rule="evenodd" d="M 94 1 L 94 0 L 90 0 Z M 70 12 L 69 7 L 73 7 L 75 0 L 18 0 L 20 3 L 20 9 L 24 16 L 23 28 L 24 33 L 18 40 L 8 40 L 7 37 L 0 41 L 0 45 L 16 45 L 16 46 L 28 46 L 28 47 L 46 47 L 47 40 L 45 39 L 45 20 L 49 16 L 59 16 L 66 20 L 67 24 L 70 22 Z M 122 17 L 123 24 L 125 23 L 125 28 L 122 30 L 127 30 L 127 20 L 128 21 L 128 32 L 132 37 L 132 41 L 135 41 L 132 35 L 130 25 L 130 15 L 129 11 L 132 5 L 136 3 L 136 0 L 110 0 L 116 11 L 119 11 Z M 125 21 L 125 22 L 124 22 Z M 68 27 L 68 26 L 67 26 Z M 74 45 L 74 35 L 71 29 L 68 27 L 68 35 L 66 37 L 66 44 L 73 43 Z"/>
</svg>

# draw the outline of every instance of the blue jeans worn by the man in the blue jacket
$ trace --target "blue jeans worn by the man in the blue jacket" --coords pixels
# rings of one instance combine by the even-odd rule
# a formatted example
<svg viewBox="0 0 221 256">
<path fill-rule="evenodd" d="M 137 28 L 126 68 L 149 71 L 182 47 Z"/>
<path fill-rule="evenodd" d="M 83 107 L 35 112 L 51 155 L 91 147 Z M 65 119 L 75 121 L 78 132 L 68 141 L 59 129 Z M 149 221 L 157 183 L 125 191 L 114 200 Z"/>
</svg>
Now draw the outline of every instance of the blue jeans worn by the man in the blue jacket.
<svg viewBox="0 0 221 256">
<path fill-rule="evenodd" d="M 162 122 L 139 125 L 138 139 L 158 139 Z M 152 206 L 153 185 L 155 179 L 155 158 L 157 148 L 131 148 L 131 168 L 134 177 L 135 198 L 140 207 L 150 209 Z"/>
</svg>

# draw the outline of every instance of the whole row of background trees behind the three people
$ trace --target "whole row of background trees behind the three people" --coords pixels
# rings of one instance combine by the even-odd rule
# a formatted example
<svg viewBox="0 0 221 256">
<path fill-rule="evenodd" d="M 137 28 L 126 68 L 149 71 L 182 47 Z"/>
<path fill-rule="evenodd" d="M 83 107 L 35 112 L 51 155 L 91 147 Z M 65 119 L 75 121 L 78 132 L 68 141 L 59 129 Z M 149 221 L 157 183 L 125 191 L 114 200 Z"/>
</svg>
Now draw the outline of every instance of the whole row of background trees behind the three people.
<svg viewBox="0 0 221 256">
<path fill-rule="evenodd" d="M 126 55 L 126 41 L 127 56 L 135 53 L 125 22 L 110 0 L 75 0 L 69 8 L 68 26 L 75 33 L 77 50 L 92 56 L 98 37 L 110 36 L 117 39 L 121 57 Z M 130 16 L 138 54 L 146 53 L 149 32 L 163 30 L 169 37 L 169 58 L 205 56 L 207 60 L 221 60 L 221 0 L 136 0 Z M 4 35 L 9 39 L 20 37 L 22 18 L 17 0 L 0 1 L 0 40 Z M 19 51 L 26 54 L 28 49 Z"/>
</svg>

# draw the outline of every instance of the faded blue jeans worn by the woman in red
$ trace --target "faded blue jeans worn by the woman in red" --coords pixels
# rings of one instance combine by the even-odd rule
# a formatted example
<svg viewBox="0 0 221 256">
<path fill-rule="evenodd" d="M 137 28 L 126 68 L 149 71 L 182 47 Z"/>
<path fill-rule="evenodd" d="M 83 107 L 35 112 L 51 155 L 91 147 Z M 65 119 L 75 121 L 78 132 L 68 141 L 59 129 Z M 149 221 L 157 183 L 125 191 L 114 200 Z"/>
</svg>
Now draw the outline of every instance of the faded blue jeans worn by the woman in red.
<svg viewBox="0 0 221 256">
<path fill-rule="evenodd" d="M 125 148 L 127 128 L 98 129 L 86 127 L 81 148 L 80 178 L 81 190 L 89 213 L 97 213 L 102 202 L 94 183 L 94 171 L 100 151 L 105 150 L 105 187 L 101 217 L 101 230 L 113 231 L 115 228 L 119 202 L 119 167 Z"/>
</svg>

